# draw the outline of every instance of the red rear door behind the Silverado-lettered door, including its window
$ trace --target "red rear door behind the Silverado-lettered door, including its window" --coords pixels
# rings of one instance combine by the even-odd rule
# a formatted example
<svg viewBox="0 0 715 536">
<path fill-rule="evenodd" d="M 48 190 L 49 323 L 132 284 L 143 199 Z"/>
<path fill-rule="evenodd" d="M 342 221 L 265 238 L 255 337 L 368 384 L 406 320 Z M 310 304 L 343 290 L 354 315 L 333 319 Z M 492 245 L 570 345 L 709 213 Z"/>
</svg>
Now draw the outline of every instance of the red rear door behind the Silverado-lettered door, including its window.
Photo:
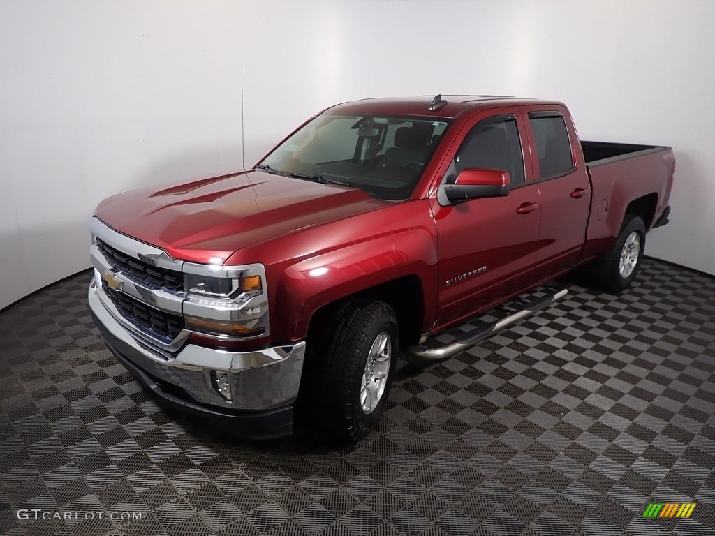
<svg viewBox="0 0 715 536">
<path fill-rule="evenodd" d="M 553 278 L 571 269 L 581 257 L 586 239 L 591 184 L 586 166 L 578 162 L 576 129 L 563 106 L 525 107 L 524 122 L 541 197 L 536 250 L 536 279 Z"/>
</svg>

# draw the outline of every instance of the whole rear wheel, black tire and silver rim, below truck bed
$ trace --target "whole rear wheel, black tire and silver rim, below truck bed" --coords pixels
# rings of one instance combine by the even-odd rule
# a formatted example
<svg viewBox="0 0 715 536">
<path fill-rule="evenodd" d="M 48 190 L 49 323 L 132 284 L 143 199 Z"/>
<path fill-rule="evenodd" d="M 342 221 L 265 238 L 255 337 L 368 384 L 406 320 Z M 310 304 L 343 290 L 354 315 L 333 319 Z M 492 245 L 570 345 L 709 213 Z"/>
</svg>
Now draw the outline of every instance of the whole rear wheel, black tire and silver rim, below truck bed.
<svg viewBox="0 0 715 536">
<path fill-rule="evenodd" d="M 606 292 L 628 288 L 641 267 L 646 247 L 646 226 L 638 216 L 626 214 L 616 242 L 608 253 L 593 265 L 598 286 Z"/>
</svg>

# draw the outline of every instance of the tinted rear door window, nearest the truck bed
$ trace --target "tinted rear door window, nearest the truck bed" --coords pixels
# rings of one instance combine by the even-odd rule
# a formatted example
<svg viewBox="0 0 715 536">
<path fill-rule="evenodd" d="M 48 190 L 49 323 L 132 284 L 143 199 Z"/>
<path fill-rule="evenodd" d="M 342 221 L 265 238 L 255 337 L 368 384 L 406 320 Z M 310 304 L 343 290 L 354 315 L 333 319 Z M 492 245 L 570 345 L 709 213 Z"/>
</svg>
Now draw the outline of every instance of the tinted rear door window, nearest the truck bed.
<svg viewBox="0 0 715 536">
<path fill-rule="evenodd" d="M 571 142 L 561 115 L 529 114 L 542 179 L 561 177 L 573 170 Z"/>
</svg>

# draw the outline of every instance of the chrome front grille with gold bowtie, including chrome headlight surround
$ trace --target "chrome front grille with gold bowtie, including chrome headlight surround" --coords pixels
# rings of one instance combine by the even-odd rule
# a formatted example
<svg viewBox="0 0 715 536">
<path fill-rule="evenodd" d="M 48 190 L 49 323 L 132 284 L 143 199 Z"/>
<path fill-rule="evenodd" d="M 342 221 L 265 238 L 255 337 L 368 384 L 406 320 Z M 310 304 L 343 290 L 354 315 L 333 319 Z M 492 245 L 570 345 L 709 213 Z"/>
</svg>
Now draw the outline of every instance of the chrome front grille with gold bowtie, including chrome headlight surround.
<svg viewBox="0 0 715 536">
<path fill-rule="evenodd" d="M 203 319 L 207 337 L 214 322 L 217 327 L 241 324 L 260 334 L 268 334 L 268 297 L 265 267 L 260 263 L 240 266 L 208 265 L 176 259 L 163 249 L 122 234 L 93 217 L 90 220 L 92 245 L 89 257 L 95 269 L 97 296 L 112 316 L 162 356 L 175 354 L 186 343 L 193 329 L 187 319 Z M 260 292 L 242 292 L 235 297 L 207 299 L 187 293 L 184 274 L 240 279 L 260 278 Z M 235 282 L 232 283 L 236 287 Z M 198 322 L 197 322 L 198 323 Z M 228 331 L 228 330 L 226 330 Z M 221 332 L 217 329 L 216 332 Z M 252 337 L 230 338 L 250 339 Z"/>
</svg>

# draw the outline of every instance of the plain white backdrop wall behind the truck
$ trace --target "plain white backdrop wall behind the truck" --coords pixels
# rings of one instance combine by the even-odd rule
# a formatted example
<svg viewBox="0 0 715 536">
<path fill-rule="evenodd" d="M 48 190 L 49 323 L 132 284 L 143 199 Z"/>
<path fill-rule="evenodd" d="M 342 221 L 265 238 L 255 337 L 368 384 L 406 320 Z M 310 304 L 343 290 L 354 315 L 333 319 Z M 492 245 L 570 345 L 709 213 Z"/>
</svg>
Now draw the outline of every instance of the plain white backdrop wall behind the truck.
<svg viewBox="0 0 715 536">
<path fill-rule="evenodd" d="M 89 267 L 109 194 L 249 167 L 339 101 L 560 99 L 581 137 L 670 144 L 647 252 L 715 274 L 710 0 L 0 0 L 0 308 Z"/>
</svg>

